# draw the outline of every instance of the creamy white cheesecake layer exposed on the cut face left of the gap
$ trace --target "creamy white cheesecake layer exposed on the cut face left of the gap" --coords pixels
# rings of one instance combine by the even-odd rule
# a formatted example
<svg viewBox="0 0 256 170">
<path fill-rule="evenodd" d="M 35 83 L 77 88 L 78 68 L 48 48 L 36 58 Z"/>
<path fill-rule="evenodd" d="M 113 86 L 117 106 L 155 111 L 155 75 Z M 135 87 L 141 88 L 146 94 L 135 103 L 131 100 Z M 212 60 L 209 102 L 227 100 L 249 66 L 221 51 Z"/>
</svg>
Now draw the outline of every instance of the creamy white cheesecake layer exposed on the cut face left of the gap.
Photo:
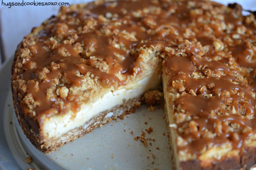
<svg viewBox="0 0 256 170">
<path fill-rule="evenodd" d="M 46 118 L 42 127 L 43 133 L 47 138 L 58 138 L 74 128 L 82 125 L 86 126 L 85 123 L 99 113 L 123 104 L 123 99 L 127 101 L 136 98 L 147 90 L 158 87 L 160 81 L 160 75 L 148 75 L 136 82 L 121 86 L 115 91 L 107 92 L 93 103 L 82 104 L 80 111 L 76 113 L 76 117 L 72 117 L 73 113 L 69 111 L 65 115 L 55 115 L 51 118 Z M 112 115 L 113 113 L 110 112 L 107 117 Z"/>
</svg>

